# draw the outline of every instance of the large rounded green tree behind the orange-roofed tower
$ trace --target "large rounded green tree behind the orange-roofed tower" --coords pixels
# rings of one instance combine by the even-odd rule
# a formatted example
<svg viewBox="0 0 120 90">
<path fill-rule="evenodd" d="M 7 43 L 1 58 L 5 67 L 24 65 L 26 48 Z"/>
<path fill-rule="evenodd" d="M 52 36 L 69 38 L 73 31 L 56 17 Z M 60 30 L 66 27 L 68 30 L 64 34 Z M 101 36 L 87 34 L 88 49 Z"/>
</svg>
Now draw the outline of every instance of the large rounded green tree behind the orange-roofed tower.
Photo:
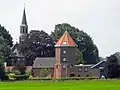
<svg viewBox="0 0 120 90">
<path fill-rule="evenodd" d="M 97 46 L 93 43 L 92 38 L 82 30 L 63 23 L 55 25 L 55 29 L 51 32 L 51 37 L 55 42 L 63 35 L 65 31 L 72 36 L 73 40 L 78 45 L 78 50 L 83 53 L 83 59 L 87 64 L 95 64 L 99 60 Z"/>
</svg>

